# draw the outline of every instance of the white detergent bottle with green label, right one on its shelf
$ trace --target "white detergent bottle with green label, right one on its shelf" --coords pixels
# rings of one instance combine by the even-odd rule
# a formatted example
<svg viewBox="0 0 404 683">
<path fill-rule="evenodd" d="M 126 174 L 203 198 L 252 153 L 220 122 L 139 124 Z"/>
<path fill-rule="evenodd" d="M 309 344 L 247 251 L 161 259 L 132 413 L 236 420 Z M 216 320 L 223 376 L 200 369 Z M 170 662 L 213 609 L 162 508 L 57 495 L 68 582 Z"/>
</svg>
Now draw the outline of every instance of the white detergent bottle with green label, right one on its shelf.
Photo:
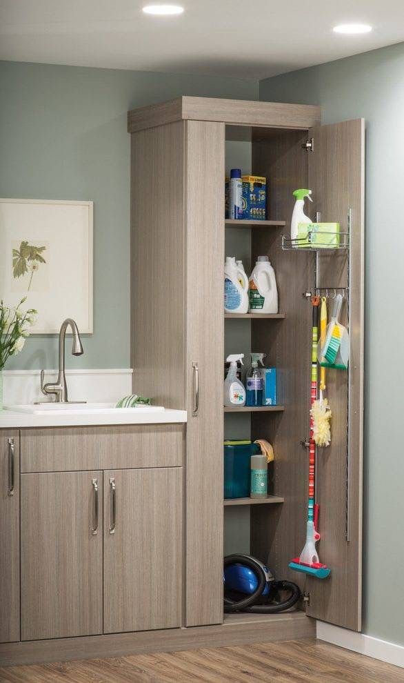
<svg viewBox="0 0 404 683">
<path fill-rule="evenodd" d="M 267 256 L 259 256 L 250 275 L 249 313 L 278 313 L 274 268 Z"/>
</svg>

